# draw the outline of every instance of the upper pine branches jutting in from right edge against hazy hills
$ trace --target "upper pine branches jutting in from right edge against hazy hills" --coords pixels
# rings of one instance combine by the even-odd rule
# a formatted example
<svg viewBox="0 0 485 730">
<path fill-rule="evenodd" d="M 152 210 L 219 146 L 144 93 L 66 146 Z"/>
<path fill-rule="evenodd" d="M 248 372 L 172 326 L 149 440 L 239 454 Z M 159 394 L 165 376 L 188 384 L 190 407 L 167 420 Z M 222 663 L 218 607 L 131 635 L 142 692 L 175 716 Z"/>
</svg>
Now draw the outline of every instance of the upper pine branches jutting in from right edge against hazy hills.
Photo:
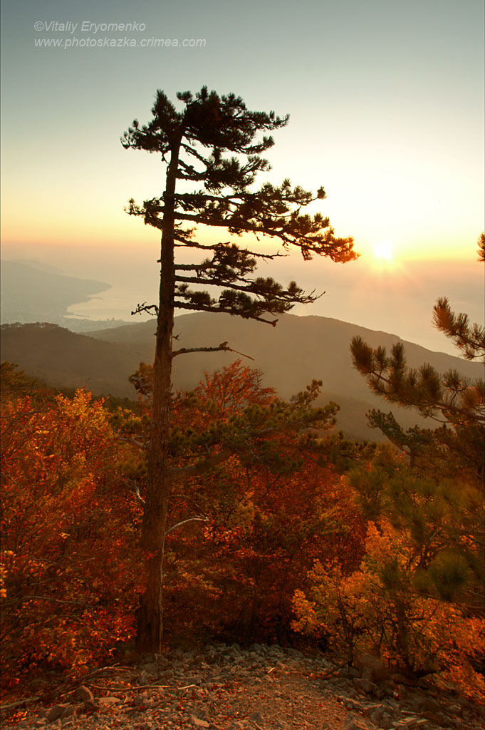
<svg viewBox="0 0 485 730">
<path fill-rule="evenodd" d="M 478 253 L 485 241 L 478 239 Z M 485 259 L 480 256 L 479 261 Z M 457 345 L 467 360 L 485 358 L 485 329 L 471 324 L 468 315 L 455 314 L 448 299 L 442 297 L 433 308 L 433 324 Z M 350 346 L 354 367 L 369 387 L 384 399 L 418 410 L 425 418 L 438 420 L 438 429 L 414 426 L 403 431 L 392 413 L 371 410 L 370 426 L 380 429 L 388 439 L 411 458 L 426 454 L 427 458 L 451 456 L 454 466 L 470 468 L 485 478 L 485 382 L 471 382 L 457 370 L 439 373 L 430 364 L 410 368 L 402 343 L 388 354 L 384 347 L 373 349 L 361 337 L 354 337 Z M 456 461 L 458 460 L 458 461 Z M 449 460 L 451 464 L 451 461 Z"/>
</svg>

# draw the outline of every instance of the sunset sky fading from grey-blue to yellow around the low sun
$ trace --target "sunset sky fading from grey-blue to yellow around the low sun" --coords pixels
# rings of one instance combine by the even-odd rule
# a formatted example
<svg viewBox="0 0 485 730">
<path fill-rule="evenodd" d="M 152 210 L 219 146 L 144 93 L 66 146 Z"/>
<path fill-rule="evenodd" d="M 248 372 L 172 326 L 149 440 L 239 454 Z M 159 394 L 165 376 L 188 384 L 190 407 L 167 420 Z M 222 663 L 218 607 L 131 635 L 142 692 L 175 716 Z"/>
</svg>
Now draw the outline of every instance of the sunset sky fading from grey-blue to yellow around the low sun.
<svg viewBox="0 0 485 730">
<path fill-rule="evenodd" d="M 41 47 L 50 39 L 71 47 Z M 5 1 L 2 45 L 4 258 L 116 286 L 136 272 L 155 286 L 158 234 L 123 206 L 160 195 L 164 169 L 119 138 L 150 119 L 157 88 L 174 98 L 207 85 L 290 113 L 259 184 L 323 185 L 322 212 L 362 254 L 345 266 L 279 264 L 282 280 L 301 272 L 327 291 L 298 313 L 389 329 L 414 296 L 408 326 L 392 331 L 423 343 L 413 327 L 424 312 L 430 326 L 437 296 L 483 318 L 482 0 Z"/>
</svg>

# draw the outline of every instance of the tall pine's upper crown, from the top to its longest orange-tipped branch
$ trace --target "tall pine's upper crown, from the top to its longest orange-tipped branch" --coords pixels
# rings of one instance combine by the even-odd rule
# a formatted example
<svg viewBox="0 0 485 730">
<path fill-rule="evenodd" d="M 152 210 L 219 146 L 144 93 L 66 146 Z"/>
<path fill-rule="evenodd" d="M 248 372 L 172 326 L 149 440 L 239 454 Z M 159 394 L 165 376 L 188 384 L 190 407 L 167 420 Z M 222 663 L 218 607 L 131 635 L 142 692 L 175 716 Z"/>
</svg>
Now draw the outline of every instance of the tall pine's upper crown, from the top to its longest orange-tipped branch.
<svg viewBox="0 0 485 730">
<path fill-rule="evenodd" d="M 257 191 L 249 190 L 258 172 L 271 169 L 260 153 L 273 146 L 273 138 L 258 134 L 285 126 L 287 115 L 251 112 L 240 97 L 219 96 L 206 87 L 195 96 L 187 91 L 177 98 L 185 104 L 181 111 L 158 91 L 152 121 L 140 126 L 134 120 L 121 141 L 125 148 L 160 152 L 174 181 L 192 181 L 201 187 L 187 192 L 176 191 L 173 185 L 173 190 L 166 189 L 163 196 L 141 206 L 131 200 L 127 209 L 131 215 L 161 230 L 169 204 L 174 211 L 176 245 L 201 247 L 193 241 L 194 229 L 182 228 L 187 221 L 227 228 L 230 234 L 252 232 L 277 238 L 284 248 L 299 247 L 305 259 L 313 254 L 341 262 L 357 258 L 353 239 L 335 237 L 328 218 L 319 212 L 301 213 L 311 202 L 325 199 L 323 187 L 311 193 L 285 179 L 282 185 L 265 183 Z"/>
</svg>

